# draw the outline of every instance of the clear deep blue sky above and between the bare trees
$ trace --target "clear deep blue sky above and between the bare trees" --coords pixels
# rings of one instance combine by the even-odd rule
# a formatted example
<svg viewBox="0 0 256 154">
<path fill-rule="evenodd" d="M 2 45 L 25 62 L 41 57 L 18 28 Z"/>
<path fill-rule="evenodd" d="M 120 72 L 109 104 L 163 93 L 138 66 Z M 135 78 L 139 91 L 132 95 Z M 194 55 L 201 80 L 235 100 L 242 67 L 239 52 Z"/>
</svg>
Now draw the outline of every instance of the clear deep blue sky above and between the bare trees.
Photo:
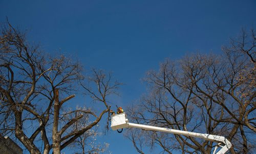
<svg viewBox="0 0 256 154">
<path fill-rule="evenodd" d="M 165 58 L 220 53 L 241 28 L 255 27 L 256 1 L 12 1 L 0 0 L 0 22 L 29 30 L 47 52 L 61 49 L 82 64 L 113 71 L 125 85 L 119 106 L 145 93 L 145 72 Z M 108 139 L 107 139 L 108 138 Z M 136 153 L 116 132 L 100 139 L 115 153 Z M 67 153 L 67 152 L 66 152 Z M 153 152 L 157 153 L 157 152 Z"/>
</svg>

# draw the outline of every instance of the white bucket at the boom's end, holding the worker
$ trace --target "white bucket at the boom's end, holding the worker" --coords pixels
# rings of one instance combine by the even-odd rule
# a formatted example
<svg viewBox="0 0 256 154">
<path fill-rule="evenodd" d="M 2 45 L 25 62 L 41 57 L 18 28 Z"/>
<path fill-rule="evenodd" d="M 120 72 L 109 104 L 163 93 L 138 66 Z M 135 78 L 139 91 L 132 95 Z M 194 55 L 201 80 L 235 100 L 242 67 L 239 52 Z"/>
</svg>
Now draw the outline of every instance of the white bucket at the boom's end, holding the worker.
<svg viewBox="0 0 256 154">
<path fill-rule="evenodd" d="M 113 116 L 111 116 L 111 129 L 113 131 L 115 131 L 118 129 L 128 127 L 127 122 L 129 122 L 129 121 L 126 118 L 125 113 L 113 115 Z"/>
</svg>

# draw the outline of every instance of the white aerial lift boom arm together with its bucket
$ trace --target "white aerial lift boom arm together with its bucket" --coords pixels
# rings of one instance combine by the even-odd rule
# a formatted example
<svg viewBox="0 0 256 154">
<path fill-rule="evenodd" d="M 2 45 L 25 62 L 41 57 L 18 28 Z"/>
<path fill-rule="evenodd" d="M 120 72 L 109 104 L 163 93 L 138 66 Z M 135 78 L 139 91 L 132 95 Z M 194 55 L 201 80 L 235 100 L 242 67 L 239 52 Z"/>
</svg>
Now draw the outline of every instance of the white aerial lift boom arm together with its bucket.
<svg viewBox="0 0 256 154">
<path fill-rule="evenodd" d="M 111 116 L 111 128 L 113 131 L 118 130 L 118 129 L 123 129 L 126 127 L 127 128 L 135 127 L 135 128 L 144 129 L 144 130 L 159 131 L 159 132 L 172 133 L 172 134 L 178 134 L 178 135 L 184 135 L 184 136 L 198 137 L 198 138 L 205 139 L 207 141 L 218 142 L 217 146 L 220 146 L 222 148 L 217 152 L 217 154 L 224 154 L 224 153 L 226 153 L 226 151 L 228 151 L 229 148 L 232 147 L 232 144 L 223 136 L 166 129 L 166 128 L 162 128 L 162 127 L 156 127 L 156 126 L 150 126 L 150 125 L 144 125 L 144 124 L 129 123 L 128 119 L 126 118 L 125 113 L 116 114 L 116 115 Z M 224 143 L 224 146 L 221 146 L 220 145 L 221 143 Z M 216 153 L 217 146 L 213 152 L 214 154 Z"/>
</svg>

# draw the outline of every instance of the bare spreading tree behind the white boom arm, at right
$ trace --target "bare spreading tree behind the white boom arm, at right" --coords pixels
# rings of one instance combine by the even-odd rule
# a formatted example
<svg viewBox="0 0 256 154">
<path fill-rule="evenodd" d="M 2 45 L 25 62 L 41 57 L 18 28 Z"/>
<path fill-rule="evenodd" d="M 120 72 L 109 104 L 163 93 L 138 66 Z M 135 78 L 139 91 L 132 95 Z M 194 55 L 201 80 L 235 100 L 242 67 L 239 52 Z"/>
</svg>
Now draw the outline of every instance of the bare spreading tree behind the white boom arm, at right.
<svg viewBox="0 0 256 154">
<path fill-rule="evenodd" d="M 231 39 L 223 55 L 194 54 L 166 60 L 144 79 L 150 94 L 129 109 L 133 122 L 227 137 L 231 153 L 255 151 L 255 33 Z M 144 131 L 147 133 L 148 131 Z M 210 153 L 216 143 L 202 139 L 147 133 L 144 144 L 166 153 Z M 133 143 L 136 138 L 132 137 Z M 136 146 L 137 149 L 137 146 Z"/>
</svg>

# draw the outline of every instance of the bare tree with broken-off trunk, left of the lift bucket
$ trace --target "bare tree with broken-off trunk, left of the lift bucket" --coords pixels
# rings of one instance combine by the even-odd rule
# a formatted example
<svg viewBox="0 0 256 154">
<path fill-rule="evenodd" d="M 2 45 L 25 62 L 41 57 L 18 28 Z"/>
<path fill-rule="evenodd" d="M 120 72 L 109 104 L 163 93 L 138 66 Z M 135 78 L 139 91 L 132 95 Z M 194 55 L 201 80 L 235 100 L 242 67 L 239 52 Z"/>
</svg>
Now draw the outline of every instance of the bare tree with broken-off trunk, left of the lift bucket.
<svg viewBox="0 0 256 154">
<path fill-rule="evenodd" d="M 88 80 L 78 62 L 42 52 L 9 22 L 1 30 L 0 54 L 0 131 L 14 134 L 30 153 L 49 153 L 51 149 L 60 153 L 96 126 L 105 113 L 109 114 L 106 97 L 120 85 L 112 82 L 110 73 L 94 70 L 91 84 L 80 87 L 83 80 Z M 77 89 L 97 101 L 98 112 L 89 108 L 68 111 L 63 107 L 75 97 Z M 92 121 L 70 131 L 84 116 Z"/>
</svg>

